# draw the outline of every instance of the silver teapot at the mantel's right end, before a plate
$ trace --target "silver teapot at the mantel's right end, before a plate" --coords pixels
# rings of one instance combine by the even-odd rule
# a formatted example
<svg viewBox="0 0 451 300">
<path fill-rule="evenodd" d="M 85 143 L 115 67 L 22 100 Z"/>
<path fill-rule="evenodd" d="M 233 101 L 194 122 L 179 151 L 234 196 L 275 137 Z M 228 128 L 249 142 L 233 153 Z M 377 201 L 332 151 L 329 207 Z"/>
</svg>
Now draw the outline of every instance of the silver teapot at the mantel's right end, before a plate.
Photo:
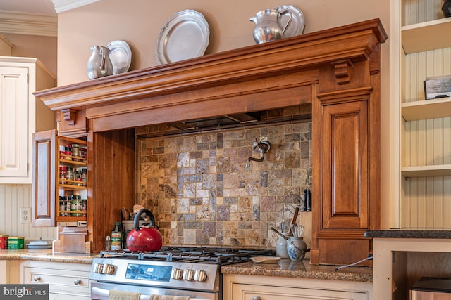
<svg viewBox="0 0 451 300">
<path fill-rule="evenodd" d="M 280 22 L 282 15 L 289 14 L 287 23 L 283 26 Z M 259 11 L 254 17 L 250 18 L 255 23 L 254 40 L 257 44 L 266 43 L 282 39 L 285 30 L 290 25 L 292 19 L 291 11 L 277 11 L 276 9 L 265 9 Z"/>
</svg>

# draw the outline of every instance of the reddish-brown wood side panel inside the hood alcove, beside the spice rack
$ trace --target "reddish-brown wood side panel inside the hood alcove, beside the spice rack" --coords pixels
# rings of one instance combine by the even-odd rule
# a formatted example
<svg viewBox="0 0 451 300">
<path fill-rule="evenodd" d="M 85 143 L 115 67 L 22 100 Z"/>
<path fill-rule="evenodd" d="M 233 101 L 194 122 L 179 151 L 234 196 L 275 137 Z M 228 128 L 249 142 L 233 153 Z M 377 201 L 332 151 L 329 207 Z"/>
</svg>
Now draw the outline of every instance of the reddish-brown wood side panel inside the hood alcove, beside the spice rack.
<svg viewBox="0 0 451 300">
<path fill-rule="evenodd" d="M 135 130 L 124 129 L 88 136 L 88 230 L 92 251 L 104 248 L 121 207 L 135 203 Z"/>
</svg>

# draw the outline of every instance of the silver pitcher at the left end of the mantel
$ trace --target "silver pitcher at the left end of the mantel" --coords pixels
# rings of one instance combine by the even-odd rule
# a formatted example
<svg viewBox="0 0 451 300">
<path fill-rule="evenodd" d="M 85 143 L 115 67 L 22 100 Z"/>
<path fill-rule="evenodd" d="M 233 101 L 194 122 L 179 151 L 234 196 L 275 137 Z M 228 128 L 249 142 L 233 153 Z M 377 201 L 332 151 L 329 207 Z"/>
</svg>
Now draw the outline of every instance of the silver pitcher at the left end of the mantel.
<svg viewBox="0 0 451 300">
<path fill-rule="evenodd" d="M 113 74 L 113 64 L 109 58 L 110 50 L 104 46 L 91 46 L 91 56 L 87 60 L 87 77 L 89 79 Z"/>
</svg>

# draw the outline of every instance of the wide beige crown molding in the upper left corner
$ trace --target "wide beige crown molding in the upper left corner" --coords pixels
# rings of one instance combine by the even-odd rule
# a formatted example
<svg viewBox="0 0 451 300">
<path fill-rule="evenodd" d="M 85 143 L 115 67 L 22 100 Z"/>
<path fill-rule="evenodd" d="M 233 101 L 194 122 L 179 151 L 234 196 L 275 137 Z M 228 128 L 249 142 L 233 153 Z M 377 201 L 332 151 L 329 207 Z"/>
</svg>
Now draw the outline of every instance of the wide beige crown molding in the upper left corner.
<svg viewBox="0 0 451 300">
<path fill-rule="evenodd" d="M 58 17 L 0 11 L 0 32 L 56 37 L 58 34 Z"/>
</svg>

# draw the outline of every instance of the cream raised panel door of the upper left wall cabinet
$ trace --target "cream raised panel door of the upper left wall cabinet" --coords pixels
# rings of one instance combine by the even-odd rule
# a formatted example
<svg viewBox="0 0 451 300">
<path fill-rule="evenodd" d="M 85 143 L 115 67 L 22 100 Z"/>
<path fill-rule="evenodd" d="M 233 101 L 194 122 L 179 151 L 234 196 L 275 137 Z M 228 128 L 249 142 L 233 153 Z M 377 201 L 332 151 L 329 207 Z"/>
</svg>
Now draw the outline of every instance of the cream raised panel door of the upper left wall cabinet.
<svg viewBox="0 0 451 300">
<path fill-rule="evenodd" d="M 28 71 L 0 65 L 0 182 L 28 176 Z"/>
</svg>

